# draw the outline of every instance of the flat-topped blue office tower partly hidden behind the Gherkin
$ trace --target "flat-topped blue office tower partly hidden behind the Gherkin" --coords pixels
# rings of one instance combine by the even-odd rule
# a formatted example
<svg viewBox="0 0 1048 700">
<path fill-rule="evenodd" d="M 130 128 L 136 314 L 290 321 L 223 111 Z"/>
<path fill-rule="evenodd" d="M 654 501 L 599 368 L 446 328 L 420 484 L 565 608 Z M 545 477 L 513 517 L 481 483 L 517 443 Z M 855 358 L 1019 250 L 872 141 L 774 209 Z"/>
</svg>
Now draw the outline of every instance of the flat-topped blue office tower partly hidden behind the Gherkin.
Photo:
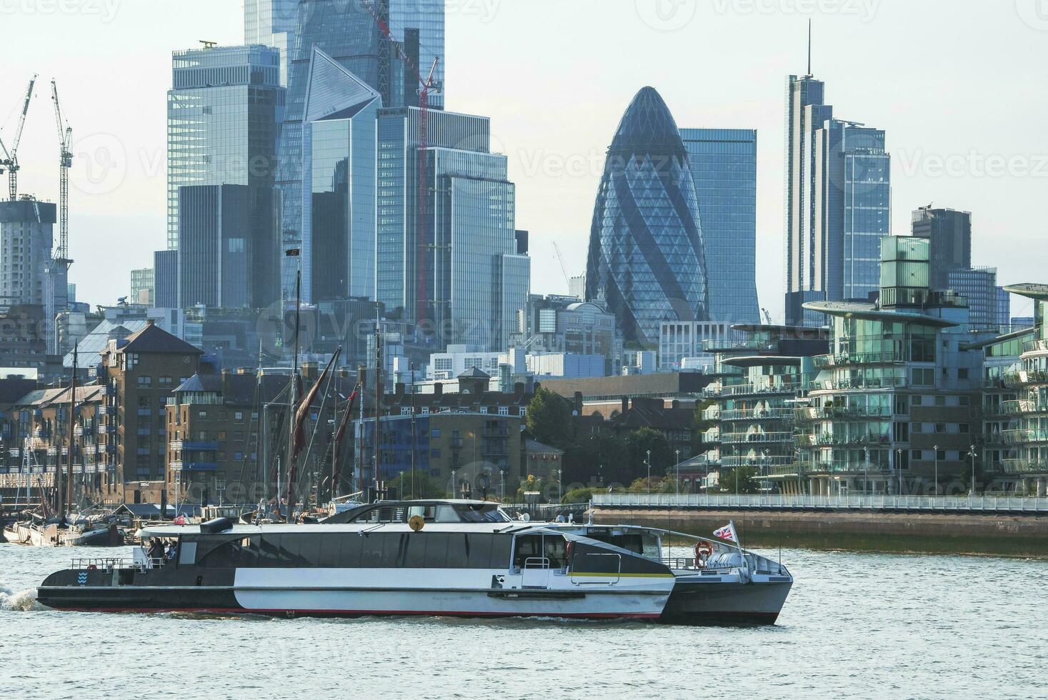
<svg viewBox="0 0 1048 700">
<path fill-rule="evenodd" d="M 757 130 L 681 129 L 706 254 L 709 318 L 760 323 L 757 301 Z"/>
</svg>

